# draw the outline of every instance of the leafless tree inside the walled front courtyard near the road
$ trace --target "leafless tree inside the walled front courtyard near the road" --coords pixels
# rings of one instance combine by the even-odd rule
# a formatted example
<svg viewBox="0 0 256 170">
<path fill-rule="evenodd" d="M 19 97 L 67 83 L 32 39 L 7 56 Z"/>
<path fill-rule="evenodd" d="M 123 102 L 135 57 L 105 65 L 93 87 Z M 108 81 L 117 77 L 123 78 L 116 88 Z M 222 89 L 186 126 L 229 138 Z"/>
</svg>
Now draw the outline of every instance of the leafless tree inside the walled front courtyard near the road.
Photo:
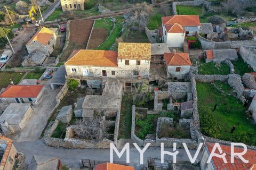
<svg viewBox="0 0 256 170">
<path fill-rule="evenodd" d="M 74 126 L 75 136 L 88 140 L 100 140 L 107 137 L 107 130 L 100 116 L 77 120 Z"/>
</svg>

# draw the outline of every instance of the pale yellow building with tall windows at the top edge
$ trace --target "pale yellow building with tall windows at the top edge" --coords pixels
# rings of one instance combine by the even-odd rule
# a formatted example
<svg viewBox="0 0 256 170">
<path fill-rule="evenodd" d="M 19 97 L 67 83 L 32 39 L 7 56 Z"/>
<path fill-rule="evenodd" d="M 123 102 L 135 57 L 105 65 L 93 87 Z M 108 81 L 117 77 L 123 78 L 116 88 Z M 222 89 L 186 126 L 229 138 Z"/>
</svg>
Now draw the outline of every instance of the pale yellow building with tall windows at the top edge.
<svg viewBox="0 0 256 170">
<path fill-rule="evenodd" d="M 84 0 L 61 0 L 62 11 L 84 10 Z"/>
</svg>

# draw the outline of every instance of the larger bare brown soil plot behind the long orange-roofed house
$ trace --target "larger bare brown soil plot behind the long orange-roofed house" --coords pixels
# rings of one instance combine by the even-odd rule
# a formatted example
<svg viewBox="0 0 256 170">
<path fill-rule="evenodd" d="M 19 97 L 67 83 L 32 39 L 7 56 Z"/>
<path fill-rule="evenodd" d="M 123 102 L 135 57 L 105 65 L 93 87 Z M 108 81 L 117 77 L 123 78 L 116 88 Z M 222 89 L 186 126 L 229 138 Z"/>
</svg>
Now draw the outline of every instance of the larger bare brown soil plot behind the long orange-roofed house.
<svg viewBox="0 0 256 170">
<path fill-rule="evenodd" d="M 63 52 L 60 62 L 65 62 L 75 49 L 85 49 L 90 37 L 93 20 L 71 21 L 69 24 L 69 44 Z"/>
</svg>

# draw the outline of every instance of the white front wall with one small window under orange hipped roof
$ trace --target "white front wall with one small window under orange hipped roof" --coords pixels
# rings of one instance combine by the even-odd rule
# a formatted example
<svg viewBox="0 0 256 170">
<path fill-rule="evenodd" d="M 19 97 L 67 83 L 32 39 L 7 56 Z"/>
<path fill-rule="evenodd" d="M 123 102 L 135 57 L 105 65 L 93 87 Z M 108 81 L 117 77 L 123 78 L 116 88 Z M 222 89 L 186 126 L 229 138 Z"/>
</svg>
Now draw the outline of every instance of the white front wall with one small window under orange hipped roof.
<svg viewBox="0 0 256 170">
<path fill-rule="evenodd" d="M 180 71 L 177 72 L 176 68 L 181 67 Z M 189 65 L 185 66 L 167 66 L 167 73 L 169 78 L 177 78 L 177 79 L 183 79 L 183 76 L 187 74 L 190 70 Z"/>
</svg>

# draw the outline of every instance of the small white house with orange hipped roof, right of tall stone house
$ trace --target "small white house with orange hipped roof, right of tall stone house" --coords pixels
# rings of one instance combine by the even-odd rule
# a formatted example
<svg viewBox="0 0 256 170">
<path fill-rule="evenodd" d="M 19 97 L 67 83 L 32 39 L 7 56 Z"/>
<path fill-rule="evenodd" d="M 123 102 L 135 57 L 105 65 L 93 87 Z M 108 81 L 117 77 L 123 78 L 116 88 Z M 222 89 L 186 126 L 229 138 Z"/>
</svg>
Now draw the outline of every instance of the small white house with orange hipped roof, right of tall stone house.
<svg viewBox="0 0 256 170">
<path fill-rule="evenodd" d="M 192 65 L 188 53 L 164 53 L 167 77 L 183 79 Z"/>
</svg>

